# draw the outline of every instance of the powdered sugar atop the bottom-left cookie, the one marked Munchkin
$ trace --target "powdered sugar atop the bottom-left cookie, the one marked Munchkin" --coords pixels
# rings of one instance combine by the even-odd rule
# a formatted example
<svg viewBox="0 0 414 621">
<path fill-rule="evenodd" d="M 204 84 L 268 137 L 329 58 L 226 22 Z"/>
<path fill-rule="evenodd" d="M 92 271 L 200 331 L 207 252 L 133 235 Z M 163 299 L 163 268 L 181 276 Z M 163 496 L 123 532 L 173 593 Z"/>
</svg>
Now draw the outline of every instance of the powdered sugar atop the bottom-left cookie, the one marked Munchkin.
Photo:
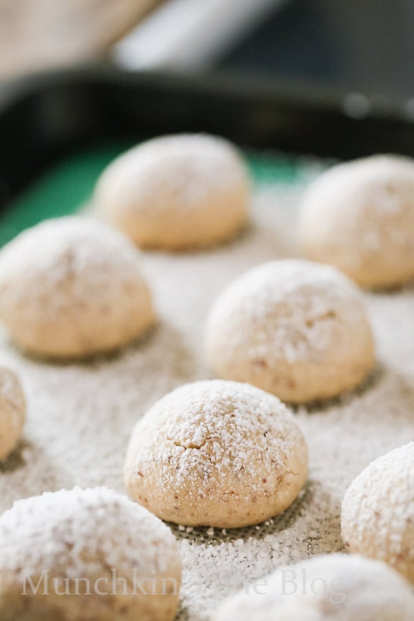
<svg viewBox="0 0 414 621">
<path fill-rule="evenodd" d="M 177 555 L 168 528 L 146 509 L 106 488 L 61 490 L 19 500 L 0 517 L 1 571 L 67 578 L 114 568 L 150 577 Z M 27 575 L 27 574 L 26 574 Z"/>
</svg>

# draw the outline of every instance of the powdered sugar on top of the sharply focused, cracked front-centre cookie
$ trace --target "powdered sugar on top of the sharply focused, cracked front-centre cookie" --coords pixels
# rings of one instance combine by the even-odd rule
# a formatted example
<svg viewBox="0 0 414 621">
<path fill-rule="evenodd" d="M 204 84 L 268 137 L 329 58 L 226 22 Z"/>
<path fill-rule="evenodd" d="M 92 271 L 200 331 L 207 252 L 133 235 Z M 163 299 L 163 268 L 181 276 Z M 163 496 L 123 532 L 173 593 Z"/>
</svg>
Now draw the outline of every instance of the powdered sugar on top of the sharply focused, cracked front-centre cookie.
<svg viewBox="0 0 414 621">
<path fill-rule="evenodd" d="M 181 386 L 134 433 L 139 439 L 148 431 L 150 449 L 140 445 L 140 469 L 146 475 L 157 464 L 167 490 L 197 491 L 204 485 L 208 495 L 211 477 L 231 473 L 244 481 L 249 497 L 264 490 L 258 467 L 282 478 L 295 453 L 302 451 L 306 463 L 302 435 L 286 406 L 249 384 L 212 380 Z"/>
</svg>

